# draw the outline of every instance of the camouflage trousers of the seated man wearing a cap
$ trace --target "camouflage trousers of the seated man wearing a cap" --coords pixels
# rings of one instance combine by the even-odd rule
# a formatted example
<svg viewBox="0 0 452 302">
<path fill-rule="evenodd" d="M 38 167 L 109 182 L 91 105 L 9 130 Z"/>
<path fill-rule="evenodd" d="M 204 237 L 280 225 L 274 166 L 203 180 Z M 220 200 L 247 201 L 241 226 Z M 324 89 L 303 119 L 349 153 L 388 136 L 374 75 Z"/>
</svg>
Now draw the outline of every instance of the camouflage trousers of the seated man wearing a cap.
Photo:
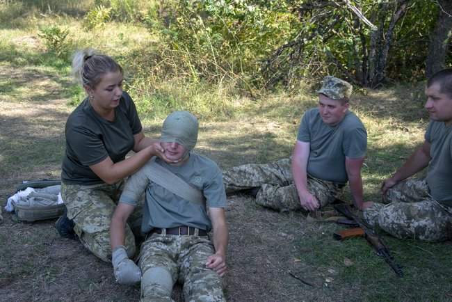
<svg viewBox="0 0 452 302">
<path fill-rule="evenodd" d="M 223 172 L 226 193 L 259 188 L 256 203 L 279 211 L 301 210 L 300 198 L 291 173 L 291 159 L 280 159 L 270 164 L 245 164 Z M 307 189 L 321 207 L 337 198 L 344 185 L 307 177 Z"/>
</svg>

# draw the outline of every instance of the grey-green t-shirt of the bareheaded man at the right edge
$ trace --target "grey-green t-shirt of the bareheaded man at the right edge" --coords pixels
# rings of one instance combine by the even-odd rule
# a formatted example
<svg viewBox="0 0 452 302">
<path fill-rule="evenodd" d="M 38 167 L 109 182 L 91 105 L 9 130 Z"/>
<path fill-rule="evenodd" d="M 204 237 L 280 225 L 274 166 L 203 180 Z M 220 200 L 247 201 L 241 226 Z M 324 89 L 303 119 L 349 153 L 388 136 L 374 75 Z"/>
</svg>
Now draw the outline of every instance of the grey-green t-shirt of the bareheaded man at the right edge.
<svg viewBox="0 0 452 302">
<path fill-rule="evenodd" d="M 452 207 L 452 125 L 432 120 L 425 138 L 430 143 L 427 173 L 430 194 L 443 205 Z"/>
</svg>

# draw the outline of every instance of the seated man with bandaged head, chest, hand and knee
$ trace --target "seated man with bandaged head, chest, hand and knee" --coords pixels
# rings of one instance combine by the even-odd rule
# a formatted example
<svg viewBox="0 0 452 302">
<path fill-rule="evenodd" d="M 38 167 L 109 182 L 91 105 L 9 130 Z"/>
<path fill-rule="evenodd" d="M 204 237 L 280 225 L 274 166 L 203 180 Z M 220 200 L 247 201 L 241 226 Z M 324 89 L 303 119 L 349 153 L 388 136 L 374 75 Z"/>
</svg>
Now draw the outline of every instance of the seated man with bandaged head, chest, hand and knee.
<svg viewBox="0 0 452 302">
<path fill-rule="evenodd" d="M 129 177 L 111 221 L 111 248 L 118 283 L 141 280 L 140 301 L 171 301 L 183 284 L 185 301 L 225 301 L 228 230 L 223 175 L 215 162 L 193 152 L 197 118 L 187 111 L 163 122 L 161 145 L 168 164 L 154 157 Z M 127 218 L 145 192 L 138 266 L 124 248 Z M 209 232 L 213 231 L 213 240 Z"/>
</svg>

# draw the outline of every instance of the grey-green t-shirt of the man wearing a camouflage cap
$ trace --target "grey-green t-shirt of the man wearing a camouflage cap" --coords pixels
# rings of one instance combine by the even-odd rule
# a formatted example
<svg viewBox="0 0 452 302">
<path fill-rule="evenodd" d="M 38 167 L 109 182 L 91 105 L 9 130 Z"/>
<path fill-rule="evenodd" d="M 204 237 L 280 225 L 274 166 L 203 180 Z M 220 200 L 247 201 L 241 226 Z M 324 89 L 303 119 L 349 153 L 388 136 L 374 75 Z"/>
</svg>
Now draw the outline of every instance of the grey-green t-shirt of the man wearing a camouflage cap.
<svg viewBox="0 0 452 302">
<path fill-rule="evenodd" d="M 366 129 L 350 111 L 334 126 L 323 122 L 318 108 L 306 111 L 300 122 L 297 140 L 309 143 L 307 173 L 338 184 L 348 181 L 346 157 L 362 158 L 367 148 Z"/>
</svg>

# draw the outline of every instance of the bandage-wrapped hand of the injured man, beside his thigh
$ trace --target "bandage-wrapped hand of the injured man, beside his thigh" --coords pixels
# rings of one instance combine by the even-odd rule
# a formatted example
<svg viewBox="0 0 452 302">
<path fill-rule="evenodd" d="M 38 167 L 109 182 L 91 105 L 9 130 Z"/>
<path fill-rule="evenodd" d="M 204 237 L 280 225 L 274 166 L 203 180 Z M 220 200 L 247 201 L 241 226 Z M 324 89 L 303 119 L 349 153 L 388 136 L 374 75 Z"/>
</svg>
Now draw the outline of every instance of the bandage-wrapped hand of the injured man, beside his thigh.
<svg viewBox="0 0 452 302">
<path fill-rule="evenodd" d="M 116 282 L 127 285 L 140 282 L 140 268 L 127 257 L 127 251 L 124 246 L 116 246 L 114 248 L 111 262 L 113 263 Z"/>
</svg>

